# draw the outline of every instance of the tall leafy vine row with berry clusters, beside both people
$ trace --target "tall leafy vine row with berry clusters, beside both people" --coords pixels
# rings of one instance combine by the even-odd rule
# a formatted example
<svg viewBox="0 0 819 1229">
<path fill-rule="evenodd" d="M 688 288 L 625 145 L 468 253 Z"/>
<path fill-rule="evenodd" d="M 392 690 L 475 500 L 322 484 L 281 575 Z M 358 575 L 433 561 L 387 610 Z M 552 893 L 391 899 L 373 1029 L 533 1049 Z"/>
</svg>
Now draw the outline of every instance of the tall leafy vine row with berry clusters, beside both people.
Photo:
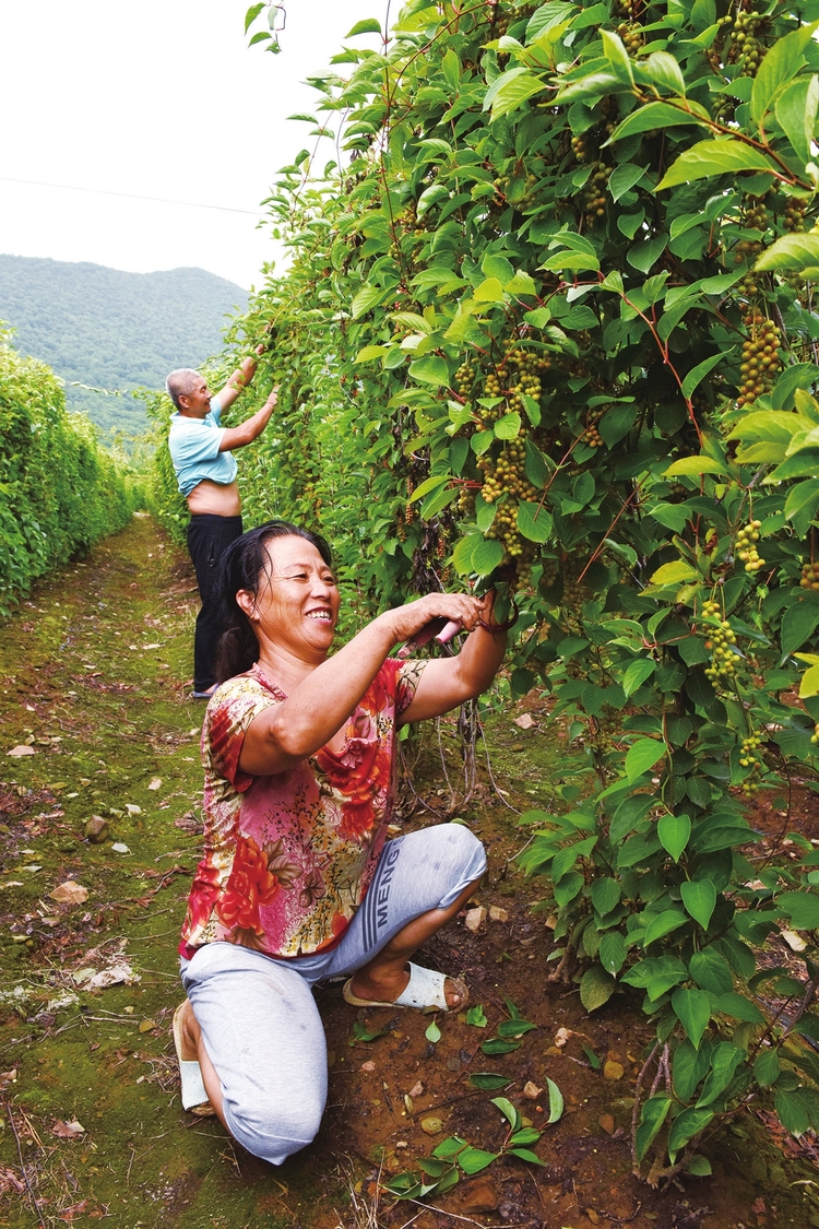
<svg viewBox="0 0 819 1229">
<path fill-rule="evenodd" d="M 292 117 L 339 154 L 281 171 L 291 264 L 231 336 L 270 332 L 248 402 L 281 386 L 248 520 L 324 532 L 352 619 L 463 584 L 519 610 L 506 698 L 550 692 L 583 756 L 523 816 L 544 976 L 643 992 L 653 1182 L 755 1099 L 819 1128 L 819 853 L 788 821 L 819 729 L 818 26 L 411 0 Z"/>
</svg>

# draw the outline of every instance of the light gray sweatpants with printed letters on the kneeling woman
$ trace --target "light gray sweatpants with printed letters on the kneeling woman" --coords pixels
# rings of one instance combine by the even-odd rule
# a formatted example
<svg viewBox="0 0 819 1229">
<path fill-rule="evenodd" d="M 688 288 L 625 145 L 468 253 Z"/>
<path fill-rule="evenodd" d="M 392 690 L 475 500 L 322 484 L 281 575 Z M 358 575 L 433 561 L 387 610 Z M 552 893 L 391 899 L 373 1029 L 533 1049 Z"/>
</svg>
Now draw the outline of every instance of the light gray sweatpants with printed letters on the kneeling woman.
<svg viewBox="0 0 819 1229">
<path fill-rule="evenodd" d="M 182 961 L 182 983 L 222 1086 L 225 1121 L 274 1165 L 311 1143 L 327 1102 L 327 1045 L 311 988 L 346 976 L 409 922 L 448 908 L 486 855 L 459 823 L 388 841 L 363 903 L 332 951 L 278 960 L 210 943 Z"/>
</svg>

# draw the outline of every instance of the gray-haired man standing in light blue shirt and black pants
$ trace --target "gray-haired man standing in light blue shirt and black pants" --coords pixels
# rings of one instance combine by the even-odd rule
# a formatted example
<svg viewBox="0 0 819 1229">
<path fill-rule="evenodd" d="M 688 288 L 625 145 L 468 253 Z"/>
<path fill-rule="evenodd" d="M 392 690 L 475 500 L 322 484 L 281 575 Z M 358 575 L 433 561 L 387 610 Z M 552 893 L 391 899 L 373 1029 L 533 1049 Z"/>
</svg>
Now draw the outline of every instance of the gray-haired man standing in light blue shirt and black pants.
<svg viewBox="0 0 819 1229">
<path fill-rule="evenodd" d="M 265 347 L 257 347 L 263 354 Z M 179 490 L 188 500 L 188 549 L 196 570 L 201 610 L 194 637 L 194 699 L 209 699 L 215 689 L 216 645 L 221 633 L 216 580 L 219 562 L 242 533 L 242 501 L 236 482 L 233 449 L 262 435 L 276 406 L 274 388 L 262 409 L 241 426 L 225 428 L 221 415 L 255 375 L 257 359 L 243 359 L 216 397 L 208 381 L 190 367 L 172 371 L 166 388 L 177 408 L 171 417 L 168 446 Z"/>
</svg>

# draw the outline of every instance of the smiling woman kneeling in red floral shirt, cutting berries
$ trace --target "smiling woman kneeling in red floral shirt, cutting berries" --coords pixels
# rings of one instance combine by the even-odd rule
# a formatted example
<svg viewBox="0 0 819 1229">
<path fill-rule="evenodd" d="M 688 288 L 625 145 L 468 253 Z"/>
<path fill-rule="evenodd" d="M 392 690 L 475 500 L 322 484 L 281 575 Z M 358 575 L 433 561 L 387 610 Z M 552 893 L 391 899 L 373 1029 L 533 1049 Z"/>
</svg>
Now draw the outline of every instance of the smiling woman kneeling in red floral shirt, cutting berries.
<svg viewBox="0 0 819 1229">
<path fill-rule="evenodd" d="M 430 594 L 328 656 L 339 591 L 323 538 L 271 521 L 237 538 L 223 568 L 227 682 L 203 734 L 205 855 L 174 1040 L 184 1107 L 215 1112 L 278 1165 L 313 1139 L 327 1100 L 316 982 L 349 977 L 356 1005 L 467 1000 L 463 983 L 409 957 L 476 889 L 480 842 L 453 823 L 384 839 L 398 726 L 479 696 L 505 634 L 490 599 Z M 458 656 L 388 656 L 436 617 L 470 632 Z"/>
</svg>

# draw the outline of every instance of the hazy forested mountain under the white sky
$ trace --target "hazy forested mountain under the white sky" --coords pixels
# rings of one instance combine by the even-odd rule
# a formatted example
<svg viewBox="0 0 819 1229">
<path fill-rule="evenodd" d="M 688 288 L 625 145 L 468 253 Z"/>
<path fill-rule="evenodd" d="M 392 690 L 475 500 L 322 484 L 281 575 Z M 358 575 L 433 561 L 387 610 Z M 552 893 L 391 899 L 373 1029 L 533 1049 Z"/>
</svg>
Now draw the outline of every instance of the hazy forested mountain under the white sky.
<svg viewBox="0 0 819 1229">
<path fill-rule="evenodd" d="M 140 402 L 72 387 L 160 388 L 173 367 L 219 351 L 226 316 L 247 293 L 204 269 L 124 273 L 25 256 L 0 256 L 0 321 L 15 347 L 65 380 L 66 401 L 99 426 L 141 431 Z"/>
</svg>

